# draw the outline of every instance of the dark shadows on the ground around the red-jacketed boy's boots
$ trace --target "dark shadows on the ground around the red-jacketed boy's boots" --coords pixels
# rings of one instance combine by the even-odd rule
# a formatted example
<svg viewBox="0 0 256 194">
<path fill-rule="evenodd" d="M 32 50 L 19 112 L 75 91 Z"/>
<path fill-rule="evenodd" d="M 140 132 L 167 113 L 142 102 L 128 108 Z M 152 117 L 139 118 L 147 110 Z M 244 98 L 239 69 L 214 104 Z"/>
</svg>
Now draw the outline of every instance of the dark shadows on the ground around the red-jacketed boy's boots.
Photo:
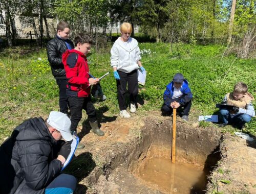
<svg viewBox="0 0 256 194">
<path fill-rule="evenodd" d="M 101 123 L 106 123 L 106 122 L 113 122 L 114 120 L 116 120 L 117 116 L 104 116 L 103 113 L 108 111 L 109 108 L 107 106 L 103 106 L 100 107 L 97 110 L 97 120 L 99 123 L 99 128 L 101 127 Z M 84 120 L 84 122 L 82 123 L 82 130 L 80 133 L 78 133 L 78 137 L 81 139 L 83 136 L 87 135 L 88 133 L 90 133 L 91 131 L 91 126 L 89 124 L 89 119 L 87 118 L 86 120 Z"/>
</svg>

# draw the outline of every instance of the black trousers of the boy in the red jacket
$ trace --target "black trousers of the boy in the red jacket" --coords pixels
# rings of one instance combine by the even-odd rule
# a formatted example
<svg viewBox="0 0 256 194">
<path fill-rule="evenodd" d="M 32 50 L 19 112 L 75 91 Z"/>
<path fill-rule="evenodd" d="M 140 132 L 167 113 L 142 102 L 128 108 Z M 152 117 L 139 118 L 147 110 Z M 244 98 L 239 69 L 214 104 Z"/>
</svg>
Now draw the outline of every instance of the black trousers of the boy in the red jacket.
<svg viewBox="0 0 256 194">
<path fill-rule="evenodd" d="M 96 109 L 91 101 L 91 96 L 86 98 L 70 96 L 69 105 L 71 112 L 71 132 L 76 131 L 78 123 L 82 118 L 82 109 L 86 110 L 90 122 L 94 123 L 96 121 Z"/>
</svg>

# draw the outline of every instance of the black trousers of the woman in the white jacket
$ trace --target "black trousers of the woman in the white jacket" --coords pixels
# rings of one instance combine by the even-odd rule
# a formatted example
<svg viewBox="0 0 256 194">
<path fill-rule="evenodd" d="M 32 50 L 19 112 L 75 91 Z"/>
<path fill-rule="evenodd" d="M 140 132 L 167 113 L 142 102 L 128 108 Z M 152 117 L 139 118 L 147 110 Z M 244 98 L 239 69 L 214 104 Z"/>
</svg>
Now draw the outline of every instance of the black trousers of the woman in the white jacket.
<svg viewBox="0 0 256 194">
<path fill-rule="evenodd" d="M 130 95 L 130 102 L 137 103 L 138 95 L 138 72 L 137 69 L 133 70 L 130 73 L 125 73 L 118 71 L 120 80 L 116 80 L 117 93 L 118 93 L 118 104 L 120 110 L 125 110 L 125 97 L 126 85 L 128 84 L 128 92 Z"/>
</svg>

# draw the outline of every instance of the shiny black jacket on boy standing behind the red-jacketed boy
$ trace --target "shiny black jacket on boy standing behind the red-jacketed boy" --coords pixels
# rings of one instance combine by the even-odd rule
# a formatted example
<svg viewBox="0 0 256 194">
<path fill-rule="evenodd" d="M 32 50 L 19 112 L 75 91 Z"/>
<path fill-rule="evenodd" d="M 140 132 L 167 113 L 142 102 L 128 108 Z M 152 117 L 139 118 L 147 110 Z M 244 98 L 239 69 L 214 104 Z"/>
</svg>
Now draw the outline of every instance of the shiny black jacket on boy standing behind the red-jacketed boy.
<svg viewBox="0 0 256 194">
<path fill-rule="evenodd" d="M 72 49 L 74 48 L 74 44 L 71 40 L 63 40 L 58 36 L 51 39 L 46 46 L 48 60 L 52 69 L 52 75 L 56 79 L 66 79 L 66 72 L 64 65 L 62 64 L 62 54 L 68 49 L 65 41 L 70 44 Z"/>
</svg>

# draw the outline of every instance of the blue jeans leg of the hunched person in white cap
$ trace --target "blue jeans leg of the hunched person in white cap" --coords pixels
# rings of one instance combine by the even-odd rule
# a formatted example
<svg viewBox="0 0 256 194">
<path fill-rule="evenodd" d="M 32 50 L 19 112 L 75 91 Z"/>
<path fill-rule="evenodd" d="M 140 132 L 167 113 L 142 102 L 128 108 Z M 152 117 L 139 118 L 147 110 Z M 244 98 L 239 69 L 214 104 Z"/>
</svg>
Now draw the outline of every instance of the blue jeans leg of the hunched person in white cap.
<svg viewBox="0 0 256 194">
<path fill-rule="evenodd" d="M 46 194 L 71 194 L 76 189 L 76 178 L 72 175 L 60 174 L 47 187 Z"/>
</svg>

